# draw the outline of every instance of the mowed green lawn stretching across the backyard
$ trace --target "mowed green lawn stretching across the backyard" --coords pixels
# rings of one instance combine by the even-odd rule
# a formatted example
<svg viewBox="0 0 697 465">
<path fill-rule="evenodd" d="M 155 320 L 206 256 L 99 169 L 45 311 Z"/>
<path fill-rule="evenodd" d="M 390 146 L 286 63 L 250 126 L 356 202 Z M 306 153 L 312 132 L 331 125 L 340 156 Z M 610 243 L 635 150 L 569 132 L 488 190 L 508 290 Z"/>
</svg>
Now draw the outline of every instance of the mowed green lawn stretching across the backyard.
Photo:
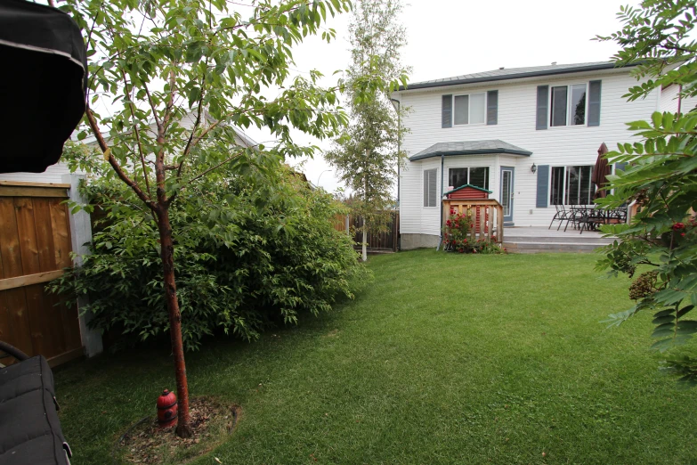
<svg viewBox="0 0 697 465">
<path fill-rule="evenodd" d="M 188 355 L 191 394 L 243 410 L 194 463 L 697 462 L 697 391 L 657 370 L 650 315 L 599 323 L 631 301 L 627 279 L 598 279 L 596 258 L 371 257 L 375 281 L 331 314 Z M 109 463 L 174 387 L 166 351 L 56 379 L 77 465 Z"/>
</svg>

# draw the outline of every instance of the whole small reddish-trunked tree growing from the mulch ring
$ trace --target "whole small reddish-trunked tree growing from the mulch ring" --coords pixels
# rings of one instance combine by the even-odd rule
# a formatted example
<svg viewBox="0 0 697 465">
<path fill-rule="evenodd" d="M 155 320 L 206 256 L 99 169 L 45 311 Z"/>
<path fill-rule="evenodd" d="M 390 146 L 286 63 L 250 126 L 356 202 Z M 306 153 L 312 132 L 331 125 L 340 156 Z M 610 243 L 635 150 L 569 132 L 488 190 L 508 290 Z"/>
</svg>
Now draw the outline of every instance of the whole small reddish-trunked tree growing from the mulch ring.
<svg viewBox="0 0 697 465">
<path fill-rule="evenodd" d="M 295 127 L 332 137 L 347 118 L 336 108 L 340 88 L 322 89 L 321 76 L 291 78 L 291 47 L 321 31 L 328 14 L 349 0 L 68 0 L 60 8 L 83 29 L 89 57 L 90 103 L 100 96 L 111 114 L 86 111 L 88 130 L 109 176 L 127 184 L 157 224 L 168 330 L 179 398 L 177 434 L 190 435 L 182 314 L 174 275 L 176 231 L 170 208 L 223 165 L 245 175 L 269 159 L 311 155 L 290 138 Z M 233 11 L 239 8 L 242 12 Z M 361 95 L 382 85 L 354 81 Z M 280 88 L 274 98 L 264 88 Z M 192 116 L 191 116 L 192 115 Z M 239 144 L 233 126 L 264 127 L 272 150 Z"/>
</svg>

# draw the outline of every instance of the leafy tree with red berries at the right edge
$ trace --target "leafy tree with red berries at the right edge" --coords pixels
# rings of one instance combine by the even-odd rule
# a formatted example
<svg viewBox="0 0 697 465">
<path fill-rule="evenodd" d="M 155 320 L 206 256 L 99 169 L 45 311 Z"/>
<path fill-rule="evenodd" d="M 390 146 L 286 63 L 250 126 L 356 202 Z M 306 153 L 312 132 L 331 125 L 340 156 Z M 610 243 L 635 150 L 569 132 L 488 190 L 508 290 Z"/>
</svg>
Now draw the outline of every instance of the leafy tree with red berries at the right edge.
<svg viewBox="0 0 697 465">
<path fill-rule="evenodd" d="M 632 73 L 640 82 L 629 89 L 629 100 L 655 89 L 677 88 L 677 98 L 697 96 L 697 43 L 691 38 L 697 17 L 695 1 L 644 0 L 618 14 L 620 31 L 598 39 L 617 42 L 619 66 L 636 64 Z M 627 273 L 634 281 L 630 297 L 636 306 L 611 314 L 618 325 L 640 311 L 651 311 L 656 325 L 653 349 L 676 349 L 666 368 L 681 374 L 687 386 L 697 385 L 697 111 L 678 104 L 677 113 L 655 112 L 651 121 L 628 123 L 642 137 L 634 144 L 620 143 L 607 154 L 612 162 L 627 164 L 610 176 L 605 208 L 635 205 L 631 224 L 604 226 L 618 237 L 605 249 L 598 264 L 611 274 Z M 645 271 L 644 271 L 645 270 Z M 638 273 L 638 275 L 637 275 Z"/>
</svg>

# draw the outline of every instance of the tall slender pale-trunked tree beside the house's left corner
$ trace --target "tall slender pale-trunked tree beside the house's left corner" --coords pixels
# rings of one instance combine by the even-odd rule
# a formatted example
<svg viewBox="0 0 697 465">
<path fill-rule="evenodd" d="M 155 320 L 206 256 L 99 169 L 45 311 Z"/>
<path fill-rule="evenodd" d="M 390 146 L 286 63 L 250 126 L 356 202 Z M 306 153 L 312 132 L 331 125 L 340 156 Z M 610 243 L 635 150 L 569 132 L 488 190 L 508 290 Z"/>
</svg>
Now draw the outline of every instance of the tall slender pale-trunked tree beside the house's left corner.
<svg viewBox="0 0 697 465">
<path fill-rule="evenodd" d="M 404 158 L 399 151 L 404 130 L 398 123 L 399 112 L 406 109 L 399 107 L 395 112 L 390 101 L 394 83 L 406 86 L 409 74 L 401 63 L 401 49 L 407 44 L 406 29 L 399 22 L 402 9 L 401 0 L 360 0 L 355 5 L 346 87 L 351 123 L 325 154 L 356 195 L 352 210 L 362 218 L 364 261 L 368 232 L 384 223 L 385 211 L 393 205 L 397 167 Z M 356 86 L 358 82 L 384 84 L 366 89 Z M 359 88 L 361 92 L 356 92 Z"/>
</svg>

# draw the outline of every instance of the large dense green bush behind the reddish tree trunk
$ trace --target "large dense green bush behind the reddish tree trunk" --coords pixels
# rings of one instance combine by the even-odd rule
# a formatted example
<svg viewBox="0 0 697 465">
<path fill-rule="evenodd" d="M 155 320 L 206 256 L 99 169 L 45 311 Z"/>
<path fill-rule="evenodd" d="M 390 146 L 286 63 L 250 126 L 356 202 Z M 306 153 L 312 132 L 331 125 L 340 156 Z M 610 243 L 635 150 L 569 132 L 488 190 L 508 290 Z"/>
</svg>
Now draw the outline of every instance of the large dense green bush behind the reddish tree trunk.
<svg viewBox="0 0 697 465">
<path fill-rule="evenodd" d="M 216 330 L 255 339 L 269 324 L 296 323 L 353 298 L 369 271 L 332 219 L 341 206 L 286 168 L 217 177 L 172 209 L 174 264 L 187 350 Z M 83 187 L 96 215 L 92 254 L 51 283 L 86 295 L 91 325 L 133 343 L 166 333 L 157 226 L 118 184 Z"/>
</svg>

